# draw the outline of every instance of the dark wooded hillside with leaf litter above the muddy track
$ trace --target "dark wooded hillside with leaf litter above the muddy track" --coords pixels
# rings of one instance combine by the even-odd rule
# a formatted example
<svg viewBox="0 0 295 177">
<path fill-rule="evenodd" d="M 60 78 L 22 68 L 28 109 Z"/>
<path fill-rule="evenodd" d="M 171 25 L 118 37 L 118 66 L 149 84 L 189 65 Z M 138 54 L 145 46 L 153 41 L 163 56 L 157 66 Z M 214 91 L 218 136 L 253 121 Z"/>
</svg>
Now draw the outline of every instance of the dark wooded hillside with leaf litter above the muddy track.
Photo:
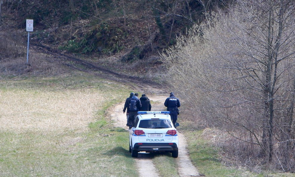
<svg viewBox="0 0 295 177">
<path fill-rule="evenodd" d="M 146 59 L 175 44 L 177 35 L 204 19 L 218 1 L 55 0 L 1 1 L 1 30 L 25 37 L 34 20 L 34 45 L 71 53 Z M 22 31 L 23 30 L 23 31 Z M 2 47 L 4 48 L 4 47 Z M 1 52 L 3 53 L 3 51 Z"/>
</svg>

